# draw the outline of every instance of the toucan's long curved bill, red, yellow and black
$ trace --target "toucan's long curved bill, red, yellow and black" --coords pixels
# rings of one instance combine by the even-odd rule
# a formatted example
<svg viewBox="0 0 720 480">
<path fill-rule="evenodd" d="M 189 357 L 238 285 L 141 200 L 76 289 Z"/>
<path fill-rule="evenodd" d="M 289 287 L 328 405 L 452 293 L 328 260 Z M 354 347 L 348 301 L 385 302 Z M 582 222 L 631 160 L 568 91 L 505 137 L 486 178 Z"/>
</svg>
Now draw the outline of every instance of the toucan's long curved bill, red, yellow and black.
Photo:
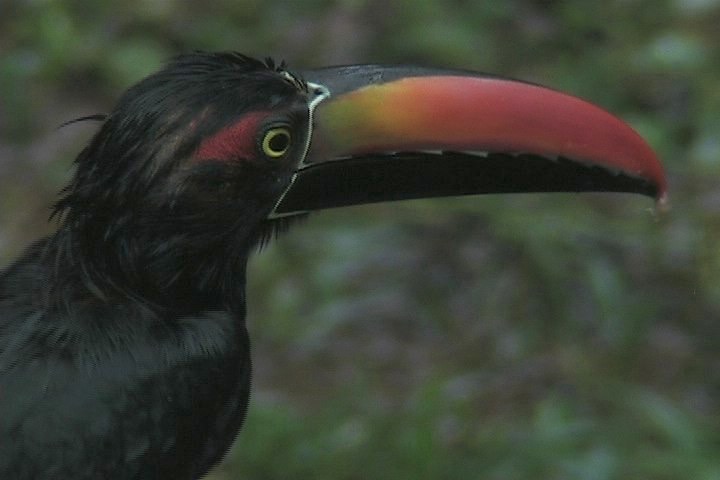
<svg viewBox="0 0 720 480">
<path fill-rule="evenodd" d="M 663 167 L 626 123 L 555 90 L 470 72 L 304 72 L 330 96 L 276 215 L 411 198 L 612 191 L 664 201 Z"/>
</svg>

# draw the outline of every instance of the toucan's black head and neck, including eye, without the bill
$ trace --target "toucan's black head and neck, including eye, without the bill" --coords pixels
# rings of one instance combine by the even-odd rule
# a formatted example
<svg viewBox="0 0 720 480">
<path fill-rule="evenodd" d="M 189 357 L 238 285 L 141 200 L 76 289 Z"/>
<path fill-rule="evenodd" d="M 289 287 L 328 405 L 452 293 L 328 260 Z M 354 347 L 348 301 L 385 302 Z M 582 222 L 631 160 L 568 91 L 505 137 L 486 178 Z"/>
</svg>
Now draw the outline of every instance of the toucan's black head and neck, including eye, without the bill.
<svg viewBox="0 0 720 480">
<path fill-rule="evenodd" d="M 217 288 L 271 226 L 325 94 L 235 53 L 180 56 L 130 88 L 56 204 L 85 282 L 103 295 Z"/>
</svg>

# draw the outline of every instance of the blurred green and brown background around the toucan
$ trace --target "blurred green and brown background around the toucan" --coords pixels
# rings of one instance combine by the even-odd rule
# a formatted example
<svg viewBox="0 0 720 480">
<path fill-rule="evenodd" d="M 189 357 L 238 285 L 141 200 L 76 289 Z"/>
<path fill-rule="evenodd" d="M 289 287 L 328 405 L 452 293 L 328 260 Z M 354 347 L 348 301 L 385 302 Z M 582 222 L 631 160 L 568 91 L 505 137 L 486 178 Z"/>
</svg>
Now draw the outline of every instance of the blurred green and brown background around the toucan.
<svg viewBox="0 0 720 480">
<path fill-rule="evenodd" d="M 0 265 L 179 52 L 472 68 L 598 103 L 669 212 L 518 195 L 323 212 L 250 268 L 254 394 L 208 478 L 720 479 L 720 1 L 2 0 Z M 0 412 L 1 414 L 1 412 Z"/>
</svg>

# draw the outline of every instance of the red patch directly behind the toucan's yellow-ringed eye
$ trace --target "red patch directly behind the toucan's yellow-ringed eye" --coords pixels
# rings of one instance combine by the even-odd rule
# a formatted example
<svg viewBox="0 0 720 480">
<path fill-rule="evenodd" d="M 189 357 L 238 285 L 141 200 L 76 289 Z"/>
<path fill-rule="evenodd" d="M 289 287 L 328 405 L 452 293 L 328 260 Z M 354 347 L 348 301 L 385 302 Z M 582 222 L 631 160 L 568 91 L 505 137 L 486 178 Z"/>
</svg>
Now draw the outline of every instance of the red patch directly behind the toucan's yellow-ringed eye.
<svg viewBox="0 0 720 480">
<path fill-rule="evenodd" d="M 202 161 L 255 157 L 258 128 L 269 114 L 269 112 L 250 113 L 216 132 L 202 141 L 195 152 L 195 158 Z"/>
</svg>

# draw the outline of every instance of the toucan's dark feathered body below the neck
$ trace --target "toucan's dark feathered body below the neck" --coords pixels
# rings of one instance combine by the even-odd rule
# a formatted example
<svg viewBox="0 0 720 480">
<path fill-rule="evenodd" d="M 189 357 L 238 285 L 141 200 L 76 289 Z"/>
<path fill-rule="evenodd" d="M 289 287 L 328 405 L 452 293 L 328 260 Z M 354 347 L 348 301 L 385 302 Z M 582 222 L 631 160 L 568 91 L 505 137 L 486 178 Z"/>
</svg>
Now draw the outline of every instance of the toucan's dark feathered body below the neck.
<svg viewBox="0 0 720 480">
<path fill-rule="evenodd" d="M 4 478 L 198 478 L 245 415 L 244 312 L 161 311 L 72 281 L 48 303 L 49 243 L 0 277 Z"/>
</svg>

